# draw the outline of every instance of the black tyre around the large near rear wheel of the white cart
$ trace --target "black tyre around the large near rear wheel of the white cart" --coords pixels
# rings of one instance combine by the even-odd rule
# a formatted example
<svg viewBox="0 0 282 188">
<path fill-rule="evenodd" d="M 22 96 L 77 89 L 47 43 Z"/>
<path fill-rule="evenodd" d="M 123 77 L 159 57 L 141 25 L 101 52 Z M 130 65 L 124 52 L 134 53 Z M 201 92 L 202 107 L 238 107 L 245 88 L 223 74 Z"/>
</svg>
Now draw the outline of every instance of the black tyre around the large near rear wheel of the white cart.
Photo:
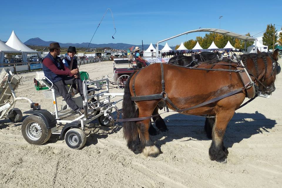
<svg viewBox="0 0 282 188">
<path fill-rule="evenodd" d="M 40 125 L 41 130 L 42 130 L 41 138 L 38 140 L 31 140 L 26 135 L 26 126 L 30 125 L 33 122 L 38 123 L 38 125 Z M 26 140 L 26 142 L 28 142 L 29 144 L 42 145 L 49 140 L 52 132 L 51 132 L 51 129 L 47 129 L 47 125 L 41 117 L 37 115 L 29 115 L 28 117 L 24 119 L 21 125 L 21 134 L 23 135 L 24 140 Z"/>
</svg>

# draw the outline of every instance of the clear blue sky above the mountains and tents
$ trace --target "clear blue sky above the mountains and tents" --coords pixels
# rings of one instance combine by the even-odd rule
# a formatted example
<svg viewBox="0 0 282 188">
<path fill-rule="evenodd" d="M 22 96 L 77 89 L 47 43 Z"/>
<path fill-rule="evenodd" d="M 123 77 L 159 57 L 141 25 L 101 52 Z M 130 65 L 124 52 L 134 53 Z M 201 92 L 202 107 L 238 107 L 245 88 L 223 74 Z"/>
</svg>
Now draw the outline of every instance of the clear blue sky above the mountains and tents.
<svg viewBox="0 0 282 188">
<path fill-rule="evenodd" d="M 142 43 L 157 41 L 202 28 L 220 28 L 251 36 L 267 24 L 282 25 L 281 1 L 3 1 L 0 11 L 0 40 L 12 30 L 22 42 L 39 37 L 61 43 Z M 219 19 L 219 16 L 223 16 Z M 281 26 L 276 26 L 280 31 Z M 205 33 L 191 33 L 168 41 L 169 46 Z M 263 33 L 256 35 L 261 36 Z M 163 43 L 162 45 L 164 45 Z"/>
</svg>

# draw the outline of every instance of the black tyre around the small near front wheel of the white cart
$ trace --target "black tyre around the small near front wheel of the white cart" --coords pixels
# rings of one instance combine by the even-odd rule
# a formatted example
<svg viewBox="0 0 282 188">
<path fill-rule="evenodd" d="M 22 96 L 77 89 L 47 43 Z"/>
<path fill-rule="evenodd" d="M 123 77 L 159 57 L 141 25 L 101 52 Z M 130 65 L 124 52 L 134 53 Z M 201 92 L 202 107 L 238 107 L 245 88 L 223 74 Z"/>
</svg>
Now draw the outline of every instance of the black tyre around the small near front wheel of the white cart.
<svg viewBox="0 0 282 188">
<path fill-rule="evenodd" d="M 68 142 L 68 137 L 72 134 L 75 134 L 77 137 L 78 137 L 78 144 L 73 146 L 71 145 L 69 142 Z M 85 143 L 86 143 L 86 135 L 85 135 L 85 132 L 81 129 L 78 129 L 78 128 L 73 128 L 73 129 L 70 129 L 66 132 L 66 135 L 65 135 L 65 142 L 66 144 L 68 145 L 68 147 L 70 147 L 71 149 L 75 149 L 75 150 L 78 150 L 80 148 L 82 148 Z"/>
</svg>

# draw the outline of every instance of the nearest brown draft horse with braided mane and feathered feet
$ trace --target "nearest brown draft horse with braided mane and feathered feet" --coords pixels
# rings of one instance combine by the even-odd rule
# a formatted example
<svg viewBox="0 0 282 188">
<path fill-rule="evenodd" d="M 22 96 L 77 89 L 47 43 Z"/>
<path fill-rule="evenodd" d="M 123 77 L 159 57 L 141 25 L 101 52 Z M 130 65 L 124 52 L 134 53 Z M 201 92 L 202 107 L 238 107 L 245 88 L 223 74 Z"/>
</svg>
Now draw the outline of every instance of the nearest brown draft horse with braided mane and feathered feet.
<svg viewBox="0 0 282 188">
<path fill-rule="evenodd" d="M 271 94 L 274 90 L 274 81 L 276 74 L 281 70 L 278 61 L 278 50 L 273 55 L 268 53 L 242 55 L 242 62 L 248 69 L 251 79 L 257 86 L 256 92 Z M 226 63 L 226 62 L 217 62 Z M 199 67 L 226 69 L 225 65 L 214 65 L 212 63 L 203 63 Z M 235 66 L 231 66 L 235 69 Z M 179 109 L 185 109 L 194 105 L 203 103 L 212 98 L 229 93 L 230 91 L 242 88 L 243 84 L 238 73 L 229 71 L 215 70 L 195 70 L 182 68 L 170 64 L 163 64 L 165 95 Z M 137 71 L 136 71 L 137 72 Z M 132 73 L 127 81 L 123 98 L 123 118 L 148 117 L 157 113 L 157 105 L 162 99 L 154 100 L 131 100 L 134 96 L 133 81 L 135 93 L 140 95 L 152 95 L 162 93 L 162 74 L 160 63 L 155 63 L 140 70 L 137 74 Z M 254 78 L 254 76 L 257 78 Z M 259 81 L 258 81 L 259 80 Z M 263 86 L 264 85 L 264 86 Z M 212 130 L 212 144 L 209 148 L 209 157 L 211 160 L 226 162 L 228 151 L 223 145 L 223 136 L 228 122 L 234 115 L 234 112 L 246 97 L 245 90 L 228 96 L 213 103 L 183 111 L 187 115 L 214 115 L 208 123 Z M 175 110 L 169 103 L 168 108 Z M 156 118 L 156 117 L 155 117 Z M 160 116 L 158 117 L 160 118 Z M 150 119 L 140 121 L 130 121 L 123 123 L 124 137 L 127 140 L 127 146 L 132 151 L 142 151 L 143 155 L 156 157 L 159 155 L 159 149 L 150 139 L 148 129 Z M 157 125 L 156 125 L 157 126 Z M 158 127 L 158 126 L 157 126 Z"/>
</svg>

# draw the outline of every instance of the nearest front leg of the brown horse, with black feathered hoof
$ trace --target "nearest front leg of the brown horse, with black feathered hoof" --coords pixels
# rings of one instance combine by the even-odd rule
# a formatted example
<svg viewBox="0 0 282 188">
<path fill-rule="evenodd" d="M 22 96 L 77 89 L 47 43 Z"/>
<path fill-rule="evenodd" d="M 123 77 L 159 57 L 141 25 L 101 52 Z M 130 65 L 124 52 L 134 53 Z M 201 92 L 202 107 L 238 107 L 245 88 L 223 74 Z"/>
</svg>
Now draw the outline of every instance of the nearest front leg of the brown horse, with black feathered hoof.
<svg viewBox="0 0 282 188">
<path fill-rule="evenodd" d="M 228 154 L 227 149 L 223 145 L 223 136 L 228 122 L 234 115 L 234 110 L 221 111 L 216 114 L 215 124 L 212 127 L 212 144 L 209 148 L 209 158 L 217 162 L 226 163 Z"/>
</svg>

